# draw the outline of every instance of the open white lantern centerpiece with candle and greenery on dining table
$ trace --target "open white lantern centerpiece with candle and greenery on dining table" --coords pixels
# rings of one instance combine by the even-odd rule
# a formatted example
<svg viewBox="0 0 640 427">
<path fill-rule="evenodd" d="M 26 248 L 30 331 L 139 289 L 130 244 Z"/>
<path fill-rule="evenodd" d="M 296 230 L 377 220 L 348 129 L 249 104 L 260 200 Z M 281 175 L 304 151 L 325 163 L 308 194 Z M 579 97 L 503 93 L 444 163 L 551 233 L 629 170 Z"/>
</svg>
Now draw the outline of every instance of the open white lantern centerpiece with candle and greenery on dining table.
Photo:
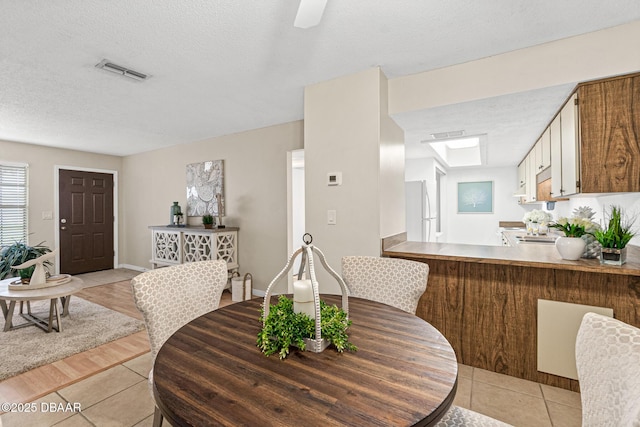
<svg viewBox="0 0 640 427">
<path fill-rule="evenodd" d="M 260 319 L 263 327 L 258 334 L 257 344 L 267 356 L 278 353 L 280 359 L 284 359 L 289 354 L 290 346 L 314 353 L 322 352 L 330 344 L 333 344 L 338 352 L 357 350 L 349 342 L 346 333 L 351 325 L 347 285 L 342 277 L 327 264 L 322 251 L 311 245 L 312 241 L 313 238 L 309 233 L 303 236 L 304 245 L 289 257 L 287 264 L 271 281 L 265 292 Z M 320 300 L 314 253 L 340 285 L 342 307 L 329 306 Z M 274 285 L 287 275 L 298 255 L 302 255 L 302 259 L 297 279 L 293 283 L 293 300 L 281 295 L 278 303 L 271 305 L 271 292 Z M 309 279 L 304 278 L 305 269 Z"/>
</svg>

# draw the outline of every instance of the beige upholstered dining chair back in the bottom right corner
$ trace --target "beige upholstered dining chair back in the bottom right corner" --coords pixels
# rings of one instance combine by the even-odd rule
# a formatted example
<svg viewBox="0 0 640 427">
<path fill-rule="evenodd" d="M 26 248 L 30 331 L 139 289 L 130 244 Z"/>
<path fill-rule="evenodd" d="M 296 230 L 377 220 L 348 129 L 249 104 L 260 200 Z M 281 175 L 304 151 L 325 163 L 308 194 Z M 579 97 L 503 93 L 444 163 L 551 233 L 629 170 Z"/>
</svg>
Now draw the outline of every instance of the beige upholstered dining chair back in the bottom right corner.
<svg viewBox="0 0 640 427">
<path fill-rule="evenodd" d="M 576 338 L 583 427 L 640 426 L 640 329 L 587 313 Z"/>
</svg>

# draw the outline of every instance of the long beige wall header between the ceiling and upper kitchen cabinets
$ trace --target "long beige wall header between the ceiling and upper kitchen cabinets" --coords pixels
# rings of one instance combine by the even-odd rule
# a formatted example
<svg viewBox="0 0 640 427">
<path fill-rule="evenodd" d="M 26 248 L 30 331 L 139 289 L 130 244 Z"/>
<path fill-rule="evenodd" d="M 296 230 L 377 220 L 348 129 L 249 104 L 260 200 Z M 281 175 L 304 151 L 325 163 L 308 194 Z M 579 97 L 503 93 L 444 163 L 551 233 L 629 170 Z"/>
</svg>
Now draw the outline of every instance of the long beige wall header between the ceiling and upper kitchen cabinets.
<svg viewBox="0 0 640 427">
<path fill-rule="evenodd" d="M 389 113 L 640 70 L 640 21 L 389 81 Z"/>
</svg>

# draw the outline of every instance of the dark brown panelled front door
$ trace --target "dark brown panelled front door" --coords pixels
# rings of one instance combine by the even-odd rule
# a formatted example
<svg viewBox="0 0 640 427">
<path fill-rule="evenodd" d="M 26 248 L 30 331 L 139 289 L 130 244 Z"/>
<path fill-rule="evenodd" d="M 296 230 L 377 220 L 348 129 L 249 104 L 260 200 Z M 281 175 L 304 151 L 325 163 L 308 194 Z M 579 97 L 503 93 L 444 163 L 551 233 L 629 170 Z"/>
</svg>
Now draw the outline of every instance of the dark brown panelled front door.
<svg viewBox="0 0 640 427">
<path fill-rule="evenodd" d="M 60 272 L 113 268 L 113 175 L 60 170 Z"/>
</svg>

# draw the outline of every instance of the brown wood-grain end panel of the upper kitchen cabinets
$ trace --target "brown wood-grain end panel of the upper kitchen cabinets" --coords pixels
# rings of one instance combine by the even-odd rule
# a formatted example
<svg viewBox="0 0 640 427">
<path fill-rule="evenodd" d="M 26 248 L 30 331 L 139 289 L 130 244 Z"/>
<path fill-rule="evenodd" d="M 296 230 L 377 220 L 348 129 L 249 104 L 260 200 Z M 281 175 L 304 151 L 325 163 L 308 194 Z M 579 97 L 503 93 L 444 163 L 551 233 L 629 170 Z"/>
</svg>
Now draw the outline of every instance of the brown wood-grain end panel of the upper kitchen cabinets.
<svg viewBox="0 0 640 427">
<path fill-rule="evenodd" d="M 582 193 L 640 191 L 640 74 L 578 86 Z"/>
</svg>

